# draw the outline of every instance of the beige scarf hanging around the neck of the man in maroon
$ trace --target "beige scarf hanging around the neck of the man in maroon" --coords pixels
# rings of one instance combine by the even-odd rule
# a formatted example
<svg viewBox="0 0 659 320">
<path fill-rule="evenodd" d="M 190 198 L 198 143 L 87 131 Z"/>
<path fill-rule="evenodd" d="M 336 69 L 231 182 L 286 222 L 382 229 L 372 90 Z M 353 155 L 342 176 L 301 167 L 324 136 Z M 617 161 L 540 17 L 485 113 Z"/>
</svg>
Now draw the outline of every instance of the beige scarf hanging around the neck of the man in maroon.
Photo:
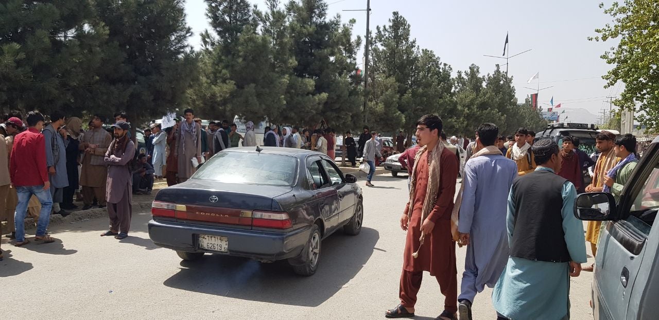
<svg viewBox="0 0 659 320">
<path fill-rule="evenodd" d="M 416 151 L 415 163 L 412 169 L 412 179 L 410 181 L 410 198 L 407 202 L 407 217 L 412 217 L 412 209 L 414 207 L 414 194 L 416 190 L 416 166 L 418 165 L 421 156 L 428 149 L 428 146 L 423 146 Z M 437 146 L 429 151 L 428 153 L 428 186 L 426 187 L 426 198 L 423 201 L 423 209 L 421 210 L 421 223 L 419 226 L 423 225 L 423 221 L 428 217 L 430 211 L 435 206 L 437 202 L 438 193 L 440 191 L 440 169 L 442 152 L 444 152 L 444 144 L 442 141 L 437 142 Z M 421 234 L 421 245 L 423 245 L 424 234 Z M 420 248 L 420 246 L 419 246 Z M 413 257 L 418 257 L 418 250 L 413 254 Z"/>
</svg>

